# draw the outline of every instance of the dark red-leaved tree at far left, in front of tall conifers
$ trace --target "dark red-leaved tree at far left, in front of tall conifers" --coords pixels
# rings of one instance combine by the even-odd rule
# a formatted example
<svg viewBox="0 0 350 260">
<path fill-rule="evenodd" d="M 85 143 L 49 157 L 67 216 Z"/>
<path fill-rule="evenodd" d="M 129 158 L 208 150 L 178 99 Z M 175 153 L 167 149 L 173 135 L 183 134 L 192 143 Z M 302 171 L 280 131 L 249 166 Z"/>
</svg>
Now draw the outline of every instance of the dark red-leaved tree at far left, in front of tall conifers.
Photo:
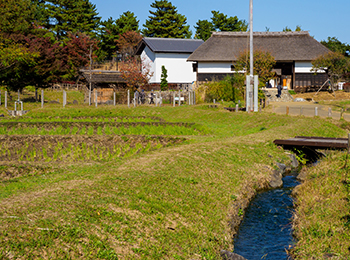
<svg viewBox="0 0 350 260">
<path fill-rule="evenodd" d="M 64 42 L 56 42 L 45 35 L 18 35 L 16 42 L 26 46 L 35 57 L 20 60 L 0 74 L 0 82 L 9 89 L 23 89 L 27 85 L 46 88 L 52 82 L 75 80 L 78 69 L 89 62 L 89 48 L 94 42 L 84 34 L 67 35 Z"/>
</svg>

